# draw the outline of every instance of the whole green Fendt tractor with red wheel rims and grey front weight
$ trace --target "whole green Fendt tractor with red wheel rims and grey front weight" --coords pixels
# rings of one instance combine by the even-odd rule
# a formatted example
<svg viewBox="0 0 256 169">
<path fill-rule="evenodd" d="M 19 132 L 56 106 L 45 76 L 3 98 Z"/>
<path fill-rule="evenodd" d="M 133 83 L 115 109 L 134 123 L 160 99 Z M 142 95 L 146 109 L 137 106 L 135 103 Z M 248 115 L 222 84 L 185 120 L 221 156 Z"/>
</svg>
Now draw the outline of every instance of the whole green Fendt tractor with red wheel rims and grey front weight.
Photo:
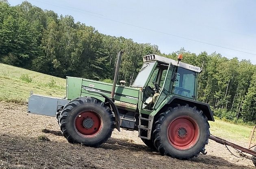
<svg viewBox="0 0 256 169">
<path fill-rule="evenodd" d="M 209 104 L 197 100 L 200 67 L 158 55 L 143 57 L 132 86 L 67 77 L 66 98 L 30 95 L 28 113 L 56 116 L 70 143 L 98 147 L 113 130 L 137 130 L 150 148 L 188 160 L 205 153 L 214 121 Z"/>
</svg>

